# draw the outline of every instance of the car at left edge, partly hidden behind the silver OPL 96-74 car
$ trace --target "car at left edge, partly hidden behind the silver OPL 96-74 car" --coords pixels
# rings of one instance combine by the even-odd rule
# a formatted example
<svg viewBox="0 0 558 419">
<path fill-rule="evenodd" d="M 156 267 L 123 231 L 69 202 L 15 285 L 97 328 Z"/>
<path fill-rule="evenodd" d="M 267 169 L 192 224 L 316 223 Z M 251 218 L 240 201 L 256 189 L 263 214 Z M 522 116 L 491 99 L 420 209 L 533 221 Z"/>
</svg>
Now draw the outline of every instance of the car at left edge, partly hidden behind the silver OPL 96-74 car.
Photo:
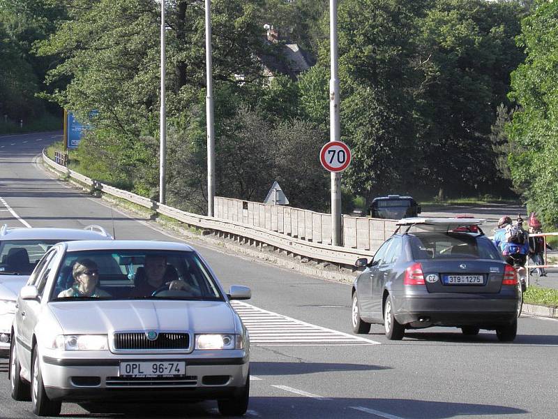
<svg viewBox="0 0 558 419">
<path fill-rule="evenodd" d="M 0 228 L 0 355 L 10 350 L 15 300 L 45 251 L 68 240 L 111 240 L 103 228 Z"/>
</svg>

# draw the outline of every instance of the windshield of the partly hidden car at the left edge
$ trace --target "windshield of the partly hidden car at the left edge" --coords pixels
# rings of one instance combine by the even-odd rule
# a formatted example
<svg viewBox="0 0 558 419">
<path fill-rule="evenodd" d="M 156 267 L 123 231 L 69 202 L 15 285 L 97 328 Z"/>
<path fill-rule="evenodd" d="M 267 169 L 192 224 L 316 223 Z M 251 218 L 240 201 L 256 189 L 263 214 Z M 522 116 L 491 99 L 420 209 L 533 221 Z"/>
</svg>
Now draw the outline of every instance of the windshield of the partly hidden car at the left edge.
<svg viewBox="0 0 558 419">
<path fill-rule="evenodd" d="M 45 252 L 60 240 L 1 240 L 0 275 L 29 275 Z"/>
</svg>

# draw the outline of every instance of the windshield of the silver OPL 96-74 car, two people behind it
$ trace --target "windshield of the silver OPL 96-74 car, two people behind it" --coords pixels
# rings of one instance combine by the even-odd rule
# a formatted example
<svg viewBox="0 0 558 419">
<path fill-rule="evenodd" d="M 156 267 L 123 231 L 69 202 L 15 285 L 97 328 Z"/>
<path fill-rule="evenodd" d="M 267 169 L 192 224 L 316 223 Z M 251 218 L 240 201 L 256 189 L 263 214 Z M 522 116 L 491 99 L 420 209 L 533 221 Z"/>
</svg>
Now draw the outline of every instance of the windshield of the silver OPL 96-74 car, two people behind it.
<svg viewBox="0 0 558 419">
<path fill-rule="evenodd" d="M 223 300 L 193 251 L 72 251 L 66 253 L 50 300 Z"/>
</svg>

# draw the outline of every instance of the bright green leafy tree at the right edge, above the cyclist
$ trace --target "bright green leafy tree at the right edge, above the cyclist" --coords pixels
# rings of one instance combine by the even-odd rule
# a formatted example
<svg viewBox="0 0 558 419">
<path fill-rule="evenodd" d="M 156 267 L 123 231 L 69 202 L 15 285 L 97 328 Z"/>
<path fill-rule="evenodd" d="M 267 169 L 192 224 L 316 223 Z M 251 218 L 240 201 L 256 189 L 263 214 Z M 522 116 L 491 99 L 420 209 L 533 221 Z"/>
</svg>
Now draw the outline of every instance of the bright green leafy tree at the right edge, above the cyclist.
<svg viewBox="0 0 558 419">
<path fill-rule="evenodd" d="M 558 226 L 558 4 L 538 1 L 522 21 L 518 45 L 527 58 L 512 73 L 510 97 L 520 105 L 508 126 L 511 177 L 530 211 Z"/>
</svg>

